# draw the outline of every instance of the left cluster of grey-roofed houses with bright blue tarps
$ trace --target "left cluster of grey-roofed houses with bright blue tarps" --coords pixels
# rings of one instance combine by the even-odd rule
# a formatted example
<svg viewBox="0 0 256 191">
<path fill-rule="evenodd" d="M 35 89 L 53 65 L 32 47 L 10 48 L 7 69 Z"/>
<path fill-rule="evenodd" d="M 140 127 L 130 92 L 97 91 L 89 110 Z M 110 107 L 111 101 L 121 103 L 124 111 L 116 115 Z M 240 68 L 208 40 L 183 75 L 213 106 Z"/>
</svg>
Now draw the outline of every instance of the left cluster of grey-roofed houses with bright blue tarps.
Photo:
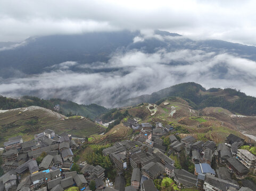
<svg viewBox="0 0 256 191">
<path fill-rule="evenodd" d="M 32 141 L 23 142 L 21 136 L 11 137 L 4 143 L 0 191 L 53 190 L 63 191 L 71 186 L 88 190 L 88 179 L 104 178 L 100 166 L 82 166 L 84 172 L 70 171 L 73 165 L 72 150 L 77 143 L 65 133 L 56 135 L 51 129 L 35 135 Z M 42 162 L 37 163 L 42 157 Z M 88 170 L 88 168 L 90 170 Z"/>
</svg>

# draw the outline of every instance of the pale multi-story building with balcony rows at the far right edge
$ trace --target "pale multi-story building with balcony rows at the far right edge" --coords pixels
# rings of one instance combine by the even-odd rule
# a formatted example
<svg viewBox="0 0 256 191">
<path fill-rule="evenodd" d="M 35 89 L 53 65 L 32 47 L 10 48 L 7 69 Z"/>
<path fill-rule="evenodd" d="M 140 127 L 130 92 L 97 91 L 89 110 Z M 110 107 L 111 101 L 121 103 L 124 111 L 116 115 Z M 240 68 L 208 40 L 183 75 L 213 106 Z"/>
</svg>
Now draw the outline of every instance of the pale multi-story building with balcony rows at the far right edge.
<svg viewBox="0 0 256 191">
<path fill-rule="evenodd" d="M 256 157 L 247 150 L 238 149 L 237 159 L 248 169 L 256 168 Z"/>
</svg>

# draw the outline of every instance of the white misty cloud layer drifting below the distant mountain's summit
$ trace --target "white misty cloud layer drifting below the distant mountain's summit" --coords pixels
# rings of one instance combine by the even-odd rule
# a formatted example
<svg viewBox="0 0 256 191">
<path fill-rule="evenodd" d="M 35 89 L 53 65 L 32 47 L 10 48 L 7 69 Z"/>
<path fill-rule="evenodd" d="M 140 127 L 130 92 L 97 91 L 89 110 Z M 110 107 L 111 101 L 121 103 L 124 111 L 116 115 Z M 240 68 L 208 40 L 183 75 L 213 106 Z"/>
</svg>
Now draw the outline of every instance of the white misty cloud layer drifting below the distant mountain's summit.
<svg viewBox="0 0 256 191">
<path fill-rule="evenodd" d="M 73 72 L 71 67 L 81 72 Z M 92 70 L 105 72 L 86 72 Z M 131 50 L 114 53 L 108 63 L 68 61 L 54 65 L 51 72 L 5 80 L 0 84 L 0 94 L 33 94 L 113 107 L 120 100 L 193 81 L 205 88 L 236 88 L 256 96 L 255 71 L 252 60 L 227 53 L 160 49 L 146 54 Z"/>
</svg>

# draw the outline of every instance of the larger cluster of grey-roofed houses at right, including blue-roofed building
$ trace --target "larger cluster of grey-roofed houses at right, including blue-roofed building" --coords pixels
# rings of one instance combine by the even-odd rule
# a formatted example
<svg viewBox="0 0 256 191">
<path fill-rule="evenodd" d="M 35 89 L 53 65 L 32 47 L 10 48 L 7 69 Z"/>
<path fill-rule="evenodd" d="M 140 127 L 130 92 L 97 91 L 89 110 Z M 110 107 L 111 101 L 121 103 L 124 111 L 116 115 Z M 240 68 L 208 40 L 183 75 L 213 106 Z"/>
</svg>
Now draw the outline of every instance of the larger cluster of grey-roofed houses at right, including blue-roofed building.
<svg viewBox="0 0 256 191">
<path fill-rule="evenodd" d="M 160 137 L 167 135 L 168 131 L 161 123 L 156 123 L 153 128 L 149 123 L 137 124 L 136 120 L 128 119 L 126 125 L 136 131 L 139 129 L 140 132 L 134 140 L 121 141 L 103 150 L 104 155 L 109 155 L 119 170 L 126 169 L 128 165 L 133 168 L 131 176 L 133 188 L 122 186 L 119 190 L 157 190 L 153 180 L 164 176 L 174 178 L 179 186 L 197 187 L 206 191 L 252 190 L 240 188 L 230 175 L 235 173 L 238 178 L 242 178 L 241 176 L 246 175 L 250 170 L 255 170 L 256 157 L 247 150 L 238 149 L 245 144 L 242 138 L 230 134 L 226 143 L 217 146 L 213 141 L 197 141 L 193 136 L 179 139 L 175 135 L 170 135 L 167 151 L 167 146 L 163 145 Z M 195 164 L 194 173 L 174 167 L 175 161 L 170 155 L 179 155 L 181 152 L 184 152 Z M 220 167 L 214 170 L 212 163 L 218 163 Z M 118 181 L 122 181 L 125 185 L 123 178 L 119 178 Z M 254 187 L 253 190 L 256 188 Z"/>
</svg>

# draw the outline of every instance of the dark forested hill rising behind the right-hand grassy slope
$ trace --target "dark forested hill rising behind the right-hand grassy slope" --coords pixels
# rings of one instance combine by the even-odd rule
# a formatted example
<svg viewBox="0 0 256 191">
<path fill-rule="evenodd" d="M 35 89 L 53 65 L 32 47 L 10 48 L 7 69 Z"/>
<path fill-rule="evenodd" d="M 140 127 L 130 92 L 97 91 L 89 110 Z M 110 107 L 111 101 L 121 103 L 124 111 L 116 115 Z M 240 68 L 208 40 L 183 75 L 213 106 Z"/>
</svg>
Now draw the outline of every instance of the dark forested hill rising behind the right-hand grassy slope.
<svg viewBox="0 0 256 191">
<path fill-rule="evenodd" d="M 235 89 L 211 88 L 205 90 L 202 85 L 194 82 L 181 83 L 136 98 L 131 98 L 118 105 L 133 106 L 138 103 L 161 103 L 169 97 L 181 97 L 189 102 L 195 109 L 205 107 L 222 107 L 241 115 L 256 116 L 256 98 L 247 96 Z"/>
</svg>

